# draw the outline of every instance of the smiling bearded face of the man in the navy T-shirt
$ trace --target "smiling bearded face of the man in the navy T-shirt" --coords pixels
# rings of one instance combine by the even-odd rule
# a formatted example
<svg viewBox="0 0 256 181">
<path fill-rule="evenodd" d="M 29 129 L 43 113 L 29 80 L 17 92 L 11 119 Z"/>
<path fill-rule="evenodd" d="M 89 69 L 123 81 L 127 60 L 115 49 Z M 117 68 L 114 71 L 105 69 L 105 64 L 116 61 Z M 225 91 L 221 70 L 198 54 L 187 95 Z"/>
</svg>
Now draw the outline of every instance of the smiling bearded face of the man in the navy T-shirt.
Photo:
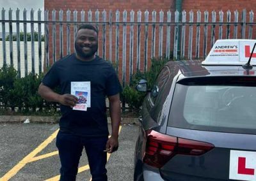
<svg viewBox="0 0 256 181">
<path fill-rule="evenodd" d="M 91 59 L 98 50 L 98 36 L 92 29 L 77 31 L 75 41 L 76 54 L 83 59 Z"/>
</svg>

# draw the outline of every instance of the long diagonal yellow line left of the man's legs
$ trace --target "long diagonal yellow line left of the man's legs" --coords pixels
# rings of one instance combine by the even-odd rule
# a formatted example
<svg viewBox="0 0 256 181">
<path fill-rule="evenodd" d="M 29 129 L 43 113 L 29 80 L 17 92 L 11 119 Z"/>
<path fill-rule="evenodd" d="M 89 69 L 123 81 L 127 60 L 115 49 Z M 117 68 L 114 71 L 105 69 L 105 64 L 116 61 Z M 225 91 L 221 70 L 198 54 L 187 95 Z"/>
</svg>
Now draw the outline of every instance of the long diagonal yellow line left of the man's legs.
<svg viewBox="0 0 256 181">
<path fill-rule="evenodd" d="M 16 164 L 10 171 L 8 171 L 0 180 L 6 181 L 12 178 L 20 169 L 22 169 L 27 163 L 33 159 L 39 152 L 41 152 L 49 143 L 51 143 L 58 133 L 59 129 L 57 129 L 54 133 L 49 136 L 43 143 L 41 143 L 35 150 L 33 150 L 28 156 L 24 157 L 18 164 Z"/>
</svg>

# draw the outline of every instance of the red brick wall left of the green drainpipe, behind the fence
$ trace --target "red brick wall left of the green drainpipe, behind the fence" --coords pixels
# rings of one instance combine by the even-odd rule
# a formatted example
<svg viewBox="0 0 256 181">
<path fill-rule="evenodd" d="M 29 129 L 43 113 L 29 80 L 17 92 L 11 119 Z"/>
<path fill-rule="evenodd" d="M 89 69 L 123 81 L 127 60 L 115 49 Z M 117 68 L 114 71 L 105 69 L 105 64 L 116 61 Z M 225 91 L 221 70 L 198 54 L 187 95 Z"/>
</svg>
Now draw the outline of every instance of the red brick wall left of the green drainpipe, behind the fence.
<svg viewBox="0 0 256 181">
<path fill-rule="evenodd" d="M 166 12 L 168 10 L 174 10 L 174 0 L 170 1 L 170 0 L 140 0 L 140 1 L 135 1 L 135 0 L 122 0 L 122 1 L 109 1 L 109 0 L 95 0 L 95 1 L 82 1 L 82 0 L 74 0 L 74 1 L 67 1 L 67 0 L 56 0 L 56 1 L 49 1 L 49 0 L 45 0 L 45 10 L 49 10 L 49 20 L 51 20 L 51 11 L 52 10 L 56 10 L 56 11 L 60 11 L 63 10 L 63 20 L 66 20 L 66 11 L 69 9 L 71 12 L 71 20 L 73 20 L 73 11 L 77 10 L 77 16 L 78 16 L 78 21 L 81 20 L 80 17 L 80 11 L 84 10 L 85 11 L 85 17 L 86 20 L 88 20 L 88 10 L 92 10 L 92 19 L 95 20 L 95 11 L 99 10 L 100 11 L 100 20 L 102 18 L 102 11 L 106 10 L 107 11 L 107 20 L 109 19 L 109 10 L 112 10 L 113 13 L 113 21 L 115 21 L 115 11 L 119 10 L 120 11 L 120 21 L 122 22 L 123 20 L 123 11 L 127 10 L 127 22 L 130 21 L 130 11 L 134 10 L 134 20 L 137 20 L 137 11 L 141 10 L 142 11 L 142 17 L 141 17 L 141 21 L 144 21 L 144 11 L 148 10 L 149 11 L 149 21 L 152 21 L 152 11 L 156 10 L 157 11 L 157 21 L 159 21 L 159 17 L 158 17 L 158 13 L 159 11 L 163 10 L 164 11 L 164 18 L 166 18 Z M 58 20 L 58 12 L 56 13 L 56 20 Z M 164 20 L 165 21 L 165 20 Z M 102 26 L 99 26 L 99 29 L 102 28 Z M 59 25 L 57 25 L 56 27 L 57 29 L 57 33 L 56 33 L 56 49 L 57 49 L 57 59 L 60 58 L 60 43 L 59 43 L 59 33 L 58 30 Z M 115 25 L 113 25 L 113 29 L 112 29 L 112 61 L 115 61 Z M 67 45 L 66 45 L 66 37 L 67 37 L 67 27 L 66 25 L 63 25 L 63 41 L 64 41 L 64 55 L 67 54 Z M 71 28 L 71 50 L 73 52 L 73 27 Z M 108 26 L 106 26 L 106 41 L 107 41 L 107 45 L 106 45 L 106 56 L 109 57 L 109 45 L 108 45 L 108 41 L 109 41 L 109 28 Z M 143 70 L 143 64 L 144 64 L 144 58 L 145 55 L 143 54 L 144 52 L 144 27 L 141 26 L 141 70 Z M 49 30 L 49 57 L 50 57 L 50 62 L 52 62 L 52 31 L 51 31 L 51 26 L 50 26 L 50 30 Z M 129 26 L 127 26 L 127 56 L 126 56 L 126 72 L 129 72 L 129 41 L 130 41 L 130 29 Z M 137 26 L 134 25 L 134 70 L 136 69 L 136 34 L 137 34 Z M 152 34 L 152 30 L 151 27 L 148 27 L 148 36 L 151 36 Z M 156 31 L 156 36 L 159 36 L 159 32 Z M 120 36 L 119 36 L 119 77 L 120 80 L 122 78 L 122 25 L 120 25 Z M 156 39 L 157 40 L 157 39 Z M 102 34 L 100 31 L 99 34 L 99 54 L 102 55 L 102 43 L 100 43 L 102 41 Z M 164 40 L 164 45 L 166 44 L 166 40 Z M 163 47 L 163 52 L 165 52 L 165 46 Z M 148 59 L 150 59 L 150 55 L 151 55 L 151 39 L 148 39 Z M 158 41 L 156 41 L 156 55 L 158 55 Z M 150 66 L 150 62 L 148 63 L 148 67 Z M 126 76 L 126 81 L 128 81 L 128 75 Z"/>
</svg>

